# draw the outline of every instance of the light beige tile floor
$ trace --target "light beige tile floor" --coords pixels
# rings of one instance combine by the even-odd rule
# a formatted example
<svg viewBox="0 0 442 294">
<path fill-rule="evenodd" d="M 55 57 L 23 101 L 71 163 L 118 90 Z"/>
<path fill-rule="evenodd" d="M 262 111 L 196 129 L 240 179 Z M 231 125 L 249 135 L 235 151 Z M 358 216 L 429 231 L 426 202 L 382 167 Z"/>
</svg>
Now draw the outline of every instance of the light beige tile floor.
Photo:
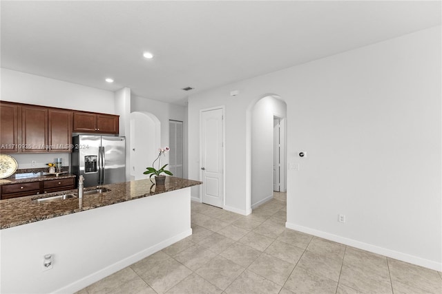
<svg viewBox="0 0 442 294">
<path fill-rule="evenodd" d="M 442 273 L 285 228 L 285 193 L 240 216 L 191 203 L 193 235 L 86 293 L 442 293 Z"/>
</svg>

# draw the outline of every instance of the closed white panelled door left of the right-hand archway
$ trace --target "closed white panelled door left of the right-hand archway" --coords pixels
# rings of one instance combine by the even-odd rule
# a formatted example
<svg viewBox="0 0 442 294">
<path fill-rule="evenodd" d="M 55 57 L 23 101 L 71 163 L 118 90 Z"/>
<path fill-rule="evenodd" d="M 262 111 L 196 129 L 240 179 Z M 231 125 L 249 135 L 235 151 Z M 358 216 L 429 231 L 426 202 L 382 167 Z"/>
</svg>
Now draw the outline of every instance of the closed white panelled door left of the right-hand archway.
<svg viewBox="0 0 442 294">
<path fill-rule="evenodd" d="M 202 202 L 223 206 L 224 198 L 224 129 L 223 109 L 201 112 Z"/>
</svg>

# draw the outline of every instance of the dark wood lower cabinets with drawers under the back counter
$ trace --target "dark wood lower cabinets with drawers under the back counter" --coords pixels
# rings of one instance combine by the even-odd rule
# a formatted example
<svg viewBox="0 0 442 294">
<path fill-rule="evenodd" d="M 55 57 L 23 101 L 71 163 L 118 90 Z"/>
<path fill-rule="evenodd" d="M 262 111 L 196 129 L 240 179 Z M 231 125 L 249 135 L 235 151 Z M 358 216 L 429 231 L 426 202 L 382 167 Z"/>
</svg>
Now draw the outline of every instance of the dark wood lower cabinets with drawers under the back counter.
<svg viewBox="0 0 442 294">
<path fill-rule="evenodd" d="M 3 200 L 71 189 L 75 189 L 75 178 L 22 182 L 18 184 L 1 185 L 0 198 Z"/>
</svg>

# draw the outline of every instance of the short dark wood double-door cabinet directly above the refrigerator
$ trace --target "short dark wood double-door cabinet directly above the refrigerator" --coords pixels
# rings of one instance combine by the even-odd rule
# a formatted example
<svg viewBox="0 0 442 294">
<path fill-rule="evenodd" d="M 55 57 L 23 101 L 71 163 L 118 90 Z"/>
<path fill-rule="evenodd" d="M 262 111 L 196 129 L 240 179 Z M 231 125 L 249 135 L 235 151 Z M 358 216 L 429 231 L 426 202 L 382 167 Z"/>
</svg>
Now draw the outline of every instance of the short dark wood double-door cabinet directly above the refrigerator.
<svg viewBox="0 0 442 294">
<path fill-rule="evenodd" d="M 118 134 L 119 116 L 74 112 L 74 132 Z"/>
</svg>

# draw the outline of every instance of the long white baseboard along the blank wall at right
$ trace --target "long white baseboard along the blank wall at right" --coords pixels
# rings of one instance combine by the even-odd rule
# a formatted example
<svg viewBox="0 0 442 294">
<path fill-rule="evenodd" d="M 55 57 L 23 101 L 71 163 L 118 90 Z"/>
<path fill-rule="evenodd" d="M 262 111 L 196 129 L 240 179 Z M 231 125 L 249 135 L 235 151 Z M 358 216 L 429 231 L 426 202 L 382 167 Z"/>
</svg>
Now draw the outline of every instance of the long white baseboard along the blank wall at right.
<svg viewBox="0 0 442 294">
<path fill-rule="evenodd" d="M 402 253 L 390 249 L 386 249 L 380 246 L 368 244 L 365 242 L 360 242 L 357 240 L 341 237 L 339 235 L 334 235 L 331 233 L 326 233 L 324 231 L 318 231 L 316 229 L 311 229 L 308 227 L 302 227 L 298 224 L 291 224 L 289 222 L 285 223 L 285 227 L 288 229 L 300 231 L 302 233 L 308 233 L 310 235 L 315 235 L 316 237 L 324 238 L 327 240 L 331 240 L 334 242 L 338 242 L 341 244 L 345 244 L 348 246 L 353 246 L 358 249 L 363 249 L 365 251 L 369 251 L 376 254 L 381 254 L 387 256 L 389 258 L 394 258 L 396 260 L 401 260 L 403 262 L 409 262 L 410 264 L 416 264 L 419 266 L 426 267 L 427 269 L 434 269 L 435 271 L 442 271 L 442 262 L 434 262 L 432 260 L 426 260 L 425 258 L 419 258 L 414 255 L 410 255 L 407 253 Z"/>
</svg>

